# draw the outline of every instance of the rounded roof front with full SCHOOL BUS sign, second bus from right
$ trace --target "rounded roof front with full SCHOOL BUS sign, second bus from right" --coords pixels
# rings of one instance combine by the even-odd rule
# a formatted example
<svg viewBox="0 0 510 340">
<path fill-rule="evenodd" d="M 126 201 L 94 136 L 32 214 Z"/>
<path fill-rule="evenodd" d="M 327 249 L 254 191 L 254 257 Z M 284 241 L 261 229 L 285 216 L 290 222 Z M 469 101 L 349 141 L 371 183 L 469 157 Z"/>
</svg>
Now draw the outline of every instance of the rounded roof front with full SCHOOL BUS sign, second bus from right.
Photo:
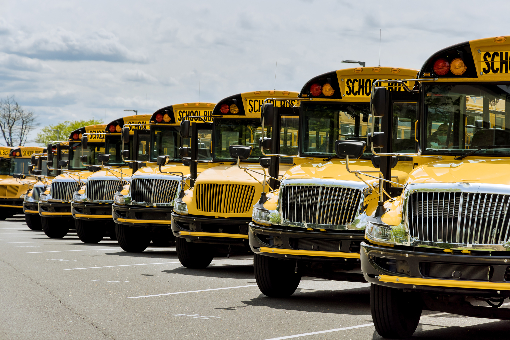
<svg viewBox="0 0 510 340">
<path fill-rule="evenodd" d="M 313 77 L 301 89 L 299 98 L 319 101 L 370 101 L 372 84 L 378 79 L 416 79 L 418 70 L 401 67 L 356 67 Z M 414 82 L 408 82 L 412 88 Z M 329 85 L 328 85 L 329 84 Z M 399 84 L 380 83 L 390 91 L 405 91 Z"/>
</svg>

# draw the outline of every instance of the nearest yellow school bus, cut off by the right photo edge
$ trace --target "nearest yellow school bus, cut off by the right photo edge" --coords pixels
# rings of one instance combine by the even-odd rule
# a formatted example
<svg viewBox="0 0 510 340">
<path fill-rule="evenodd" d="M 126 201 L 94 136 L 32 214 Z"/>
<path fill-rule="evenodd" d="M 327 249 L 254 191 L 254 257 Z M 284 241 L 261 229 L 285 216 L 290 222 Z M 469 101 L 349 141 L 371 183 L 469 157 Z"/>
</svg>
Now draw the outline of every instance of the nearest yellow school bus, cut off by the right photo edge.
<svg viewBox="0 0 510 340">
<path fill-rule="evenodd" d="M 420 70 L 414 169 L 402 194 L 371 216 L 361 244 L 381 336 L 411 336 L 423 307 L 510 320 L 498 308 L 510 297 L 509 53 L 510 36 L 471 40 Z M 374 115 L 391 113 L 385 96 L 376 88 Z"/>
</svg>

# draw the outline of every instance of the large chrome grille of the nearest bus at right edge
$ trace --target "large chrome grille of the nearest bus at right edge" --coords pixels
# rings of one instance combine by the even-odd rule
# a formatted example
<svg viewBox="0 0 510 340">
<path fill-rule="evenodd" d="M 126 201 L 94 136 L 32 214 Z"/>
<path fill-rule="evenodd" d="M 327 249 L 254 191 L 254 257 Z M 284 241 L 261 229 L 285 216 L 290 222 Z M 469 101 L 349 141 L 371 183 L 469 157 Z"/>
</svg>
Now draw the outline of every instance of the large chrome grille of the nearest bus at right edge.
<svg viewBox="0 0 510 340">
<path fill-rule="evenodd" d="M 508 240 L 508 195 L 418 192 L 409 196 L 411 237 L 457 244 L 502 244 Z"/>
</svg>

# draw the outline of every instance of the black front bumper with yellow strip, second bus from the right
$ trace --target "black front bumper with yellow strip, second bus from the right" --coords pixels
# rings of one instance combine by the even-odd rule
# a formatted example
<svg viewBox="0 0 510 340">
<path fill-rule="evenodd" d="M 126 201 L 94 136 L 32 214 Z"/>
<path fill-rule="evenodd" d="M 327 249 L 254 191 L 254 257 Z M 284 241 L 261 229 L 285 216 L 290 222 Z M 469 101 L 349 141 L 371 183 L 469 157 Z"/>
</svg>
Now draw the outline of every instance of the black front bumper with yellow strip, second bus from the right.
<svg viewBox="0 0 510 340">
<path fill-rule="evenodd" d="M 359 244 L 364 240 L 362 232 L 293 230 L 285 226 L 261 226 L 252 222 L 249 224 L 248 238 L 250 250 L 254 253 L 297 259 L 303 276 L 365 282 L 359 254 Z M 303 242 L 310 244 L 310 249 L 303 249 L 300 246 Z M 338 244 L 338 250 L 320 250 L 321 244 L 325 247 L 329 242 Z"/>
</svg>

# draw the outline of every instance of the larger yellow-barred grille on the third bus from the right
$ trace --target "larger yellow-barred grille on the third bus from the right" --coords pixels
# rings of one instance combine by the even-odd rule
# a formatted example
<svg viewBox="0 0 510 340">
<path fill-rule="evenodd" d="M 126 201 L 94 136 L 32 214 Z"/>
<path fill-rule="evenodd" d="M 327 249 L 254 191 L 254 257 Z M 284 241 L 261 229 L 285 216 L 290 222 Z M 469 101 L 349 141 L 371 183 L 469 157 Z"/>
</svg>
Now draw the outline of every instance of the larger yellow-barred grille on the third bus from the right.
<svg viewBox="0 0 510 340">
<path fill-rule="evenodd" d="M 239 184 L 198 184 L 196 205 L 207 213 L 246 214 L 250 211 L 255 187 Z"/>
</svg>

